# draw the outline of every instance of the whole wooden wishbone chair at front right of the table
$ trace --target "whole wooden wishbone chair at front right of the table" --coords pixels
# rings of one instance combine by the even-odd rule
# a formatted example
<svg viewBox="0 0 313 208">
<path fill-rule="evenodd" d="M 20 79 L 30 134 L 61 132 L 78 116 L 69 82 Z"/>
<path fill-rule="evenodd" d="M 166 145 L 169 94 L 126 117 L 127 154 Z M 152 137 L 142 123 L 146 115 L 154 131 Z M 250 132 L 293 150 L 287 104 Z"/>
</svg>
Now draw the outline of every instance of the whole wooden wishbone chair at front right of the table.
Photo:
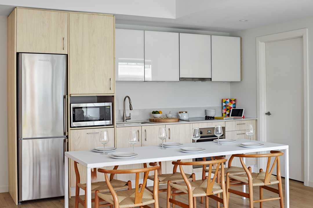
<svg viewBox="0 0 313 208">
<path fill-rule="evenodd" d="M 242 175 L 232 175 L 227 173 L 226 174 L 226 185 L 227 185 L 227 198 L 229 201 L 229 193 L 233 193 L 239 196 L 244 196 L 246 198 L 249 198 L 250 201 L 250 208 L 253 208 L 253 203 L 259 202 L 260 208 L 263 207 L 263 202 L 265 201 L 272 201 L 272 200 L 279 200 L 280 201 L 280 208 L 284 208 L 284 201 L 283 201 L 283 191 L 282 191 L 282 183 L 281 183 L 281 176 L 280 176 L 280 160 L 279 157 L 282 156 L 284 153 L 280 151 L 270 151 L 268 154 L 235 154 L 234 157 L 239 157 L 240 162 L 246 172 L 246 174 Z M 267 160 L 267 166 L 266 171 L 264 172 L 263 169 L 260 169 L 259 173 L 251 172 L 251 168 L 247 168 L 247 166 L 244 164 L 243 157 L 268 157 Z M 270 162 L 271 158 L 275 157 L 274 163 L 272 167 L 270 168 Z M 276 164 L 277 169 L 277 176 L 272 175 L 272 172 L 274 170 Z M 236 181 L 240 181 L 240 183 L 236 184 L 230 184 L 229 180 L 234 179 Z M 267 185 L 273 185 L 278 184 L 278 189 L 269 187 Z M 249 185 L 249 193 L 244 193 L 241 191 L 230 189 L 230 186 L 241 186 L 241 185 Z M 259 186 L 260 189 L 260 199 L 259 200 L 253 200 L 253 186 Z M 263 189 L 266 189 L 268 191 L 272 191 L 279 195 L 279 197 L 276 198 L 268 198 L 263 199 Z"/>
</svg>

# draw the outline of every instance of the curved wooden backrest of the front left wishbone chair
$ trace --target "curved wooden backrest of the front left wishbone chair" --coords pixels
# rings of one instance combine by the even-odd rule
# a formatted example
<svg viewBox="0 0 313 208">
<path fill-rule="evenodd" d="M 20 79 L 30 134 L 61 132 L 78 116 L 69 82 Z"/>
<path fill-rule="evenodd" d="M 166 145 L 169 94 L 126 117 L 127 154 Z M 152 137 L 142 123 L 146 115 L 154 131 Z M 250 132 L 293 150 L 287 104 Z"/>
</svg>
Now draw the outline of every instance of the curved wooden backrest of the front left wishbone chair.
<svg viewBox="0 0 313 208">
<path fill-rule="evenodd" d="M 105 175 L 105 181 L 107 181 L 107 185 L 109 187 L 109 190 L 113 196 L 113 200 L 114 200 L 114 204 L 115 204 L 115 207 L 119 204 L 119 201 L 118 201 L 118 197 L 117 197 L 117 194 L 116 192 L 114 191 L 111 183 L 110 183 L 110 180 L 109 180 L 109 177 L 108 177 L 108 173 L 110 174 L 127 174 L 127 173 L 135 173 L 136 174 L 136 185 L 135 185 L 135 204 L 138 204 L 138 203 L 141 203 L 142 201 L 142 196 L 143 196 L 143 192 L 145 190 L 145 187 L 146 187 L 146 184 L 147 184 L 147 179 L 148 179 L 148 175 L 149 175 L 149 172 L 150 171 L 154 171 L 154 185 L 153 185 L 153 196 L 154 196 L 154 199 L 157 200 L 157 195 L 158 195 L 158 179 L 157 179 L 157 170 L 159 169 L 159 165 L 156 165 L 156 166 L 152 166 L 152 167 L 144 167 L 144 168 L 139 168 L 139 169 L 129 169 L 129 170 L 107 170 L 107 169 L 102 169 L 102 168 L 99 168 L 98 169 L 98 172 L 102 172 L 104 173 Z M 144 173 L 144 176 L 143 176 L 143 182 L 142 184 L 139 184 L 139 174 L 140 173 Z M 140 190 L 139 190 L 140 188 Z"/>
</svg>

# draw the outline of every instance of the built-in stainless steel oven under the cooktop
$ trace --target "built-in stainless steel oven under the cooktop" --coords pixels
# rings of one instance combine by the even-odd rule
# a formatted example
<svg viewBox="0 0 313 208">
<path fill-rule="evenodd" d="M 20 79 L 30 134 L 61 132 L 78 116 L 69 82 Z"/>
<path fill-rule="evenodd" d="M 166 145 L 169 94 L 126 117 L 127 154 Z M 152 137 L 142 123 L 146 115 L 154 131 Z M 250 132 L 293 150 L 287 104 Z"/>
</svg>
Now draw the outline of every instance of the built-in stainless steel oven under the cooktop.
<svg viewBox="0 0 313 208">
<path fill-rule="evenodd" d="M 211 142 L 214 139 L 217 139 L 217 136 L 214 135 L 214 127 L 212 128 L 199 128 L 200 129 L 200 139 L 197 140 L 197 143 L 200 142 Z M 224 139 L 225 138 L 225 127 L 222 127 L 223 129 L 223 134 L 222 136 L 220 136 L 220 139 Z M 194 140 L 192 140 L 192 142 L 195 142 Z M 201 144 L 200 144 L 201 145 Z M 225 156 L 222 156 L 225 157 Z M 211 160 L 211 157 L 206 157 L 206 160 Z M 193 158 L 192 161 L 203 161 L 203 158 Z M 193 168 L 202 168 L 201 165 L 194 165 Z"/>
</svg>

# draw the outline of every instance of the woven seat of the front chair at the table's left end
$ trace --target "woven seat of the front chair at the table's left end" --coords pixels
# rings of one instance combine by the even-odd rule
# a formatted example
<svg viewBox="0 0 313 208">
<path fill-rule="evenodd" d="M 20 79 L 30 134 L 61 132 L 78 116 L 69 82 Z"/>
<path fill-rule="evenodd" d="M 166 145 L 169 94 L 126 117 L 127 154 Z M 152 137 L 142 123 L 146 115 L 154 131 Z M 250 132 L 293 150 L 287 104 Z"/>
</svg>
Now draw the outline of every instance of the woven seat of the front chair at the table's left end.
<svg viewBox="0 0 313 208">
<path fill-rule="evenodd" d="M 135 189 L 116 191 L 116 194 L 117 194 L 120 208 L 144 206 L 144 205 L 154 203 L 153 194 L 146 189 L 143 192 L 141 203 L 138 203 L 138 204 L 135 204 Z M 110 204 L 114 204 L 111 193 L 104 193 L 104 194 L 98 193 L 97 196 L 109 202 Z"/>
</svg>

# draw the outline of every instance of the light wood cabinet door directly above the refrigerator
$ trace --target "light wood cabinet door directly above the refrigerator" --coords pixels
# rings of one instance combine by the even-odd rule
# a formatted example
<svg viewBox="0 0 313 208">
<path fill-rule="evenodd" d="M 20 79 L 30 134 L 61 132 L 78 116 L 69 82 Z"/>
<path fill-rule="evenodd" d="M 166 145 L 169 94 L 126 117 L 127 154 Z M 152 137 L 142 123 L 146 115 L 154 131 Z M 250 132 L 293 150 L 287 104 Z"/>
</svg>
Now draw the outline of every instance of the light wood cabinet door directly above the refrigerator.
<svg viewBox="0 0 313 208">
<path fill-rule="evenodd" d="M 17 9 L 17 52 L 67 54 L 68 13 Z"/>
</svg>

